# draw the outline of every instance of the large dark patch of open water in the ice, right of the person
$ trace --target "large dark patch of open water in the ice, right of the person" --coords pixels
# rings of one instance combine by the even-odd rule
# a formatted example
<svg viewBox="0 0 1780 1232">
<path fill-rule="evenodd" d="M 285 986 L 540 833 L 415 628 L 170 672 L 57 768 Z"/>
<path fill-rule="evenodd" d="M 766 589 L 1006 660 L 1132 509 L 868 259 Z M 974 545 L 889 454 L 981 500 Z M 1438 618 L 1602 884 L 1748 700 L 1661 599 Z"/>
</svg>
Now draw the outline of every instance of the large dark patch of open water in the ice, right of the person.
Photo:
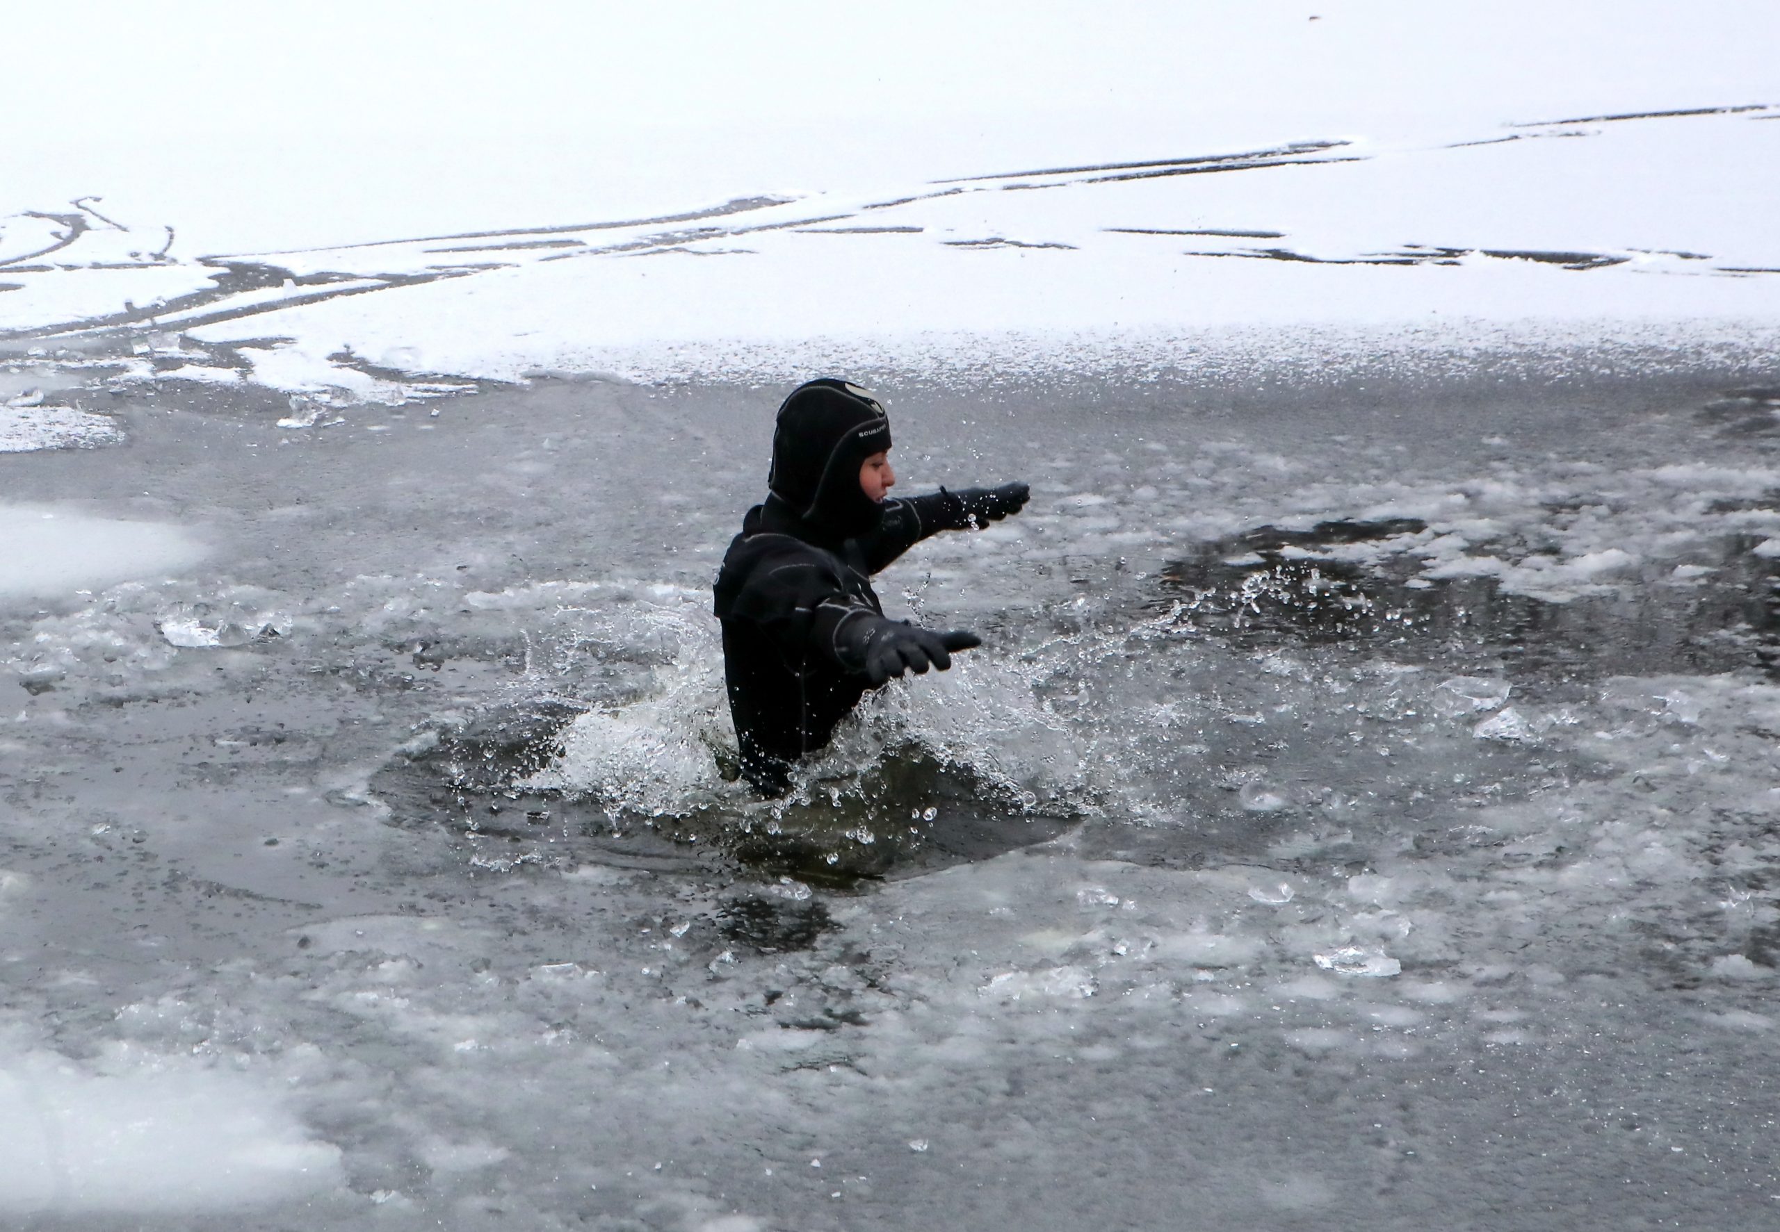
<svg viewBox="0 0 1780 1232">
<path fill-rule="evenodd" d="M 1426 530 L 1417 519 L 1260 526 L 1168 564 L 1150 608 L 1241 647 L 1353 647 L 1454 668 L 1501 665 L 1554 683 L 1643 672 L 1780 672 L 1780 560 L 1759 535 L 1718 544 L 1695 585 L 1629 585 L 1566 603 L 1495 578 L 1420 578 L 1413 551 L 1376 565 L 1330 549 Z"/>
</svg>

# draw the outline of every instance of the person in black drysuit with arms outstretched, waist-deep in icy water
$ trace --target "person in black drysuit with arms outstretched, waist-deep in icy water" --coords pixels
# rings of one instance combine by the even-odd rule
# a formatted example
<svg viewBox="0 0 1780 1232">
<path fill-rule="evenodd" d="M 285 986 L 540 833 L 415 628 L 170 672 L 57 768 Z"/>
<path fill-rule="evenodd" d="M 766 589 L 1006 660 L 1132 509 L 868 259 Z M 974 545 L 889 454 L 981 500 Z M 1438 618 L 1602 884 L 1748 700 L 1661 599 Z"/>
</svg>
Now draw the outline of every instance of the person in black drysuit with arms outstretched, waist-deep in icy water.
<svg viewBox="0 0 1780 1232">
<path fill-rule="evenodd" d="M 888 448 L 890 421 L 869 393 L 833 379 L 797 386 L 773 432 L 767 500 L 723 558 L 730 715 L 742 777 L 764 795 L 785 795 L 792 763 L 822 748 L 867 690 L 945 670 L 952 651 L 981 645 L 974 633 L 886 619 L 870 576 L 934 532 L 1016 514 L 1027 485 L 878 501 L 862 468 Z"/>
</svg>

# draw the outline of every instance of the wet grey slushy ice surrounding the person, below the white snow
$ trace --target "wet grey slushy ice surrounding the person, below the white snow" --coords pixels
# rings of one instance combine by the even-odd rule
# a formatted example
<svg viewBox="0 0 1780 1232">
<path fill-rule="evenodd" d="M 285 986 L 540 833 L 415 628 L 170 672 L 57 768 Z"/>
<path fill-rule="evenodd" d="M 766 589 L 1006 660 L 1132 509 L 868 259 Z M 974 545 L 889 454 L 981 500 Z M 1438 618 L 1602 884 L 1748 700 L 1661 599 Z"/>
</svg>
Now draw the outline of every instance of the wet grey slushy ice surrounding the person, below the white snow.
<svg viewBox="0 0 1780 1232">
<path fill-rule="evenodd" d="M 1034 500 L 881 578 L 986 649 L 785 809 L 705 615 L 778 389 L 134 400 L 7 462 L 212 555 L 4 608 L 0 1204 L 1766 1227 L 1766 389 L 885 382 L 910 491 Z"/>
</svg>

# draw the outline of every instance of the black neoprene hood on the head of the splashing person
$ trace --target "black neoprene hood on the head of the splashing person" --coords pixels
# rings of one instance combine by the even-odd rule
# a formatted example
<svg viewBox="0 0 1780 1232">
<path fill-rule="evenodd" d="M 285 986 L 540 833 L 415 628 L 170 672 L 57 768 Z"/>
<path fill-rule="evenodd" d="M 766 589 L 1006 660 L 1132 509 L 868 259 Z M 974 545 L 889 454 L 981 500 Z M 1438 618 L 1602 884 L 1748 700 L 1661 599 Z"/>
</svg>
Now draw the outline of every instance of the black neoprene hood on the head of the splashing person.
<svg viewBox="0 0 1780 1232">
<path fill-rule="evenodd" d="M 890 448 L 890 420 L 858 386 L 822 377 L 790 391 L 773 432 L 767 489 L 815 542 L 876 530 L 883 505 L 860 489 L 860 466 Z"/>
</svg>

